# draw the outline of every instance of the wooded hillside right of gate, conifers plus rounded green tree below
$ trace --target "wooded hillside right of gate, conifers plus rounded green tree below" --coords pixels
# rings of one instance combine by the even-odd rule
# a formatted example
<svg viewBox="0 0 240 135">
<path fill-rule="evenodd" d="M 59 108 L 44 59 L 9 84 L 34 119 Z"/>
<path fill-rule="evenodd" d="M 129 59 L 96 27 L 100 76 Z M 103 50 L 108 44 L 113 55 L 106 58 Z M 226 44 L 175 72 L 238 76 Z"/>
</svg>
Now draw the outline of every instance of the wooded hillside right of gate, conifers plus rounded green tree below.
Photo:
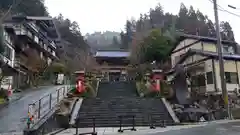
<svg viewBox="0 0 240 135">
<path fill-rule="evenodd" d="M 157 60 L 159 60 L 159 57 L 166 59 L 167 50 L 171 50 L 179 33 L 216 37 L 214 21 L 192 6 L 187 8 L 182 3 L 177 15 L 168 13 L 163 8 L 158 4 L 154 9 L 150 9 L 149 13 L 140 14 L 138 19 L 126 21 L 125 32 L 121 33 L 122 44 L 132 51 L 135 57 L 133 59 L 138 62 L 143 59 L 143 61 L 151 61 L 154 59 L 153 56 L 158 58 Z M 220 22 L 220 30 L 223 40 L 235 41 L 232 27 L 228 22 Z M 162 36 L 157 36 L 156 33 Z M 158 39 L 156 39 L 157 41 L 151 41 L 152 38 L 149 36 Z M 162 42 L 162 39 L 165 40 L 165 38 L 171 40 L 172 43 Z M 157 45 L 156 43 L 166 44 Z M 153 44 L 154 47 L 151 46 Z M 148 50 L 148 53 L 146 53 L 146 50 Z M 145 54 L 150 59 L 143 58 Z"/>
</svg>

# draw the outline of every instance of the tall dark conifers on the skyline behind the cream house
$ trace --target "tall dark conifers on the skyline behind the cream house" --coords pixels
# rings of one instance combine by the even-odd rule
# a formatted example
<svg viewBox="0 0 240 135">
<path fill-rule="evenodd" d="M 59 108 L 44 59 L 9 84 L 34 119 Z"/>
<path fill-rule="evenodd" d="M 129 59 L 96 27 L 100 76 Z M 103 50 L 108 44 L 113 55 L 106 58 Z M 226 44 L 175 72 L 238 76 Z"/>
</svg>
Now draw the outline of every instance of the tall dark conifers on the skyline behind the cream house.
<svg viewBox="0 0 240 135">
<path fill-rule="evenodd" d="M 201 11 L 192 6 L 187 8 L 182 3 L 177 15 L 164 12 L 163 7 L 158 4 L 154 9 L 150 9 L 149 13 L 140 14 L 138 19 L 127 20 L 122 40 L 129 44 L 134 38 L 147 34 L 151 29 L 161 29 L 170 36 L 180 31 L 186 34 L 216 37 L 214 21 Z M 228 22 L 220 22 L 220 29 L 223 40 L 235 40 L 232 27 Z"/>
</svg>

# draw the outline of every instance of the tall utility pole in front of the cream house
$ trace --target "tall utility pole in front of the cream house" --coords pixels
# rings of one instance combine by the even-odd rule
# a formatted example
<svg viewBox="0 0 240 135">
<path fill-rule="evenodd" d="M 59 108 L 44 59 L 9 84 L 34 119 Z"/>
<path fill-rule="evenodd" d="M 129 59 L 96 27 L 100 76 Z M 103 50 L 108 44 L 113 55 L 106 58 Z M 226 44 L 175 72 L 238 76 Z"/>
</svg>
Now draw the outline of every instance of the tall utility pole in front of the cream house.
<svg viewBox="0 0 240 135">
<path fill-rule="evenodd" d="M 217 32 L 217 50 L 218 50 L 218 61 L 219 61 L 219 69 L 220 69 L 220 77 L 221 77 L 221 88 L 222 88 L 222 98 L 224 99 L 225 109 L 227 110 L 228 118 L 231 118 L 230 108 L 228 103 L 228 92 L 225 81 L 225 72 L 224 72 L 224 63 L 222 56 L 222 43 L 221 43 L 221 35 L 219 28 L 219 20 L 218 20 L 218 9 L 217 9 L 217 0 L 213 0 L 214 7 L 214 16 L 215 16 L 215 24 L 216 24 L 216 32 Z"/>
</svg>

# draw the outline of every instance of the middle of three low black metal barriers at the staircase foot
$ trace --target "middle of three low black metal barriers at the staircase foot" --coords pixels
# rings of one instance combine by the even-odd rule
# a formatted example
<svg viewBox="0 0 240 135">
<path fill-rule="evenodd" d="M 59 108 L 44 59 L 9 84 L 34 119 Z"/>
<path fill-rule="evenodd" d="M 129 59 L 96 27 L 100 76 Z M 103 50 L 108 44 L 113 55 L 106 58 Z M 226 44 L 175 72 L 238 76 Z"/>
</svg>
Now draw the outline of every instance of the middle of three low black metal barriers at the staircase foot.
<svg viewBox="0 0 240 135">
<path fill-rule="evenodd" d="M 118 130 L 118 132 L 122 133 L 124 130 L 137 131 L 136 128 L 135 128 L 135 123 L 136 123 L 135 115 L 120 115 L 120 116 L 118 116 L 118 118 L 119 118 L 119 130 Z M 123 127 L 122 127 L 123 119 L 127 119 L 127 120 L 132 119 L 132 127 L 123 129 Z"/>
</svg>

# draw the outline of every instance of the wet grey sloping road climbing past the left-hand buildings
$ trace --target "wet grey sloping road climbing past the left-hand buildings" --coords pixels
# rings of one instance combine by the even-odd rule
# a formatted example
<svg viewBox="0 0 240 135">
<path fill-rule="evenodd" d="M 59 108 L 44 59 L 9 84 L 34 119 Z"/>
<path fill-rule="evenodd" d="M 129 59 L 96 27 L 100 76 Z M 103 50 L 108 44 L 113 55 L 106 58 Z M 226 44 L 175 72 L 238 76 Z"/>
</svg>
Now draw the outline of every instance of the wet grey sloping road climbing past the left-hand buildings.
<svg viewBox="0 0 240 135">
<path fill-rule="evenodd" d="M 0 110 L 0 134 L 5 132 L 19 132 L 26 126 L 28 104 L 55 91 L 62 86 L 45 86 L 31 92 L 26 92 L 20 99 L 13 101 Z M 54 96 L 55 98 L 55 96 Z"/>
</svg>

